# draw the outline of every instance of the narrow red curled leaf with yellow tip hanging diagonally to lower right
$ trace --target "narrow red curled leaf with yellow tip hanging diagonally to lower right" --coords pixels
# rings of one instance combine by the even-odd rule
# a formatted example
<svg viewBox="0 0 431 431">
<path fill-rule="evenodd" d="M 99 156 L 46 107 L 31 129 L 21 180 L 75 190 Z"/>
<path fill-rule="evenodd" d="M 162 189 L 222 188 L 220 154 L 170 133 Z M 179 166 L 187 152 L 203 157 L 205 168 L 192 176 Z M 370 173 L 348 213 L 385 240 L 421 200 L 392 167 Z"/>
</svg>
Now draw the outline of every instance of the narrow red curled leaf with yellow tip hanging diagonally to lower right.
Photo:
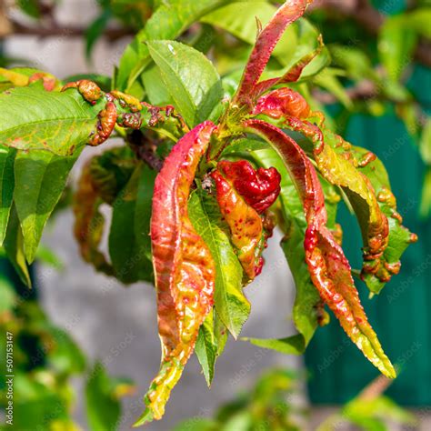
<svg viewBox="0 0 431 431">
<path fill-rule="evenodd" d="M 394 367 L 367 321 L 346 256 L 326 226 L 325 198 L 315 168 L 301 147 L 276 126 L 260 120 L 247 120 L 244 125 L 274 146 L 296 184 L 306 214 L 306 263 L 320 296 L 369 361 L 386 376 L 395 377 Z"/>
</svg>

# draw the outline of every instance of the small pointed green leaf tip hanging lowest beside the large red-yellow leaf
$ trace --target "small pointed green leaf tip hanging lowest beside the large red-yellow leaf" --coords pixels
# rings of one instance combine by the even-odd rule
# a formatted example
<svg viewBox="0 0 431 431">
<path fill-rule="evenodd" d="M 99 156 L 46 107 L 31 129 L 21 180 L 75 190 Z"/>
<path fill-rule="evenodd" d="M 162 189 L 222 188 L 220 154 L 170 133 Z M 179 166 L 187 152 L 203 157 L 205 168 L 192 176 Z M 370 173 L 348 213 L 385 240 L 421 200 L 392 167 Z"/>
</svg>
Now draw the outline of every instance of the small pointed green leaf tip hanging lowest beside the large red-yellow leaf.
<svg viewBox="0 0 431 431">
<path fill-rule="evenodd" d="M 195 354 L 204 371 L 206 383 L 208 386 L 211 386 L 217 357 L 217 343 L 214 334 L 214 312 L 206 316 L 205 322 L 199 329 L 199 335 L 197 336 L 195 344 Z"/>
</svg>

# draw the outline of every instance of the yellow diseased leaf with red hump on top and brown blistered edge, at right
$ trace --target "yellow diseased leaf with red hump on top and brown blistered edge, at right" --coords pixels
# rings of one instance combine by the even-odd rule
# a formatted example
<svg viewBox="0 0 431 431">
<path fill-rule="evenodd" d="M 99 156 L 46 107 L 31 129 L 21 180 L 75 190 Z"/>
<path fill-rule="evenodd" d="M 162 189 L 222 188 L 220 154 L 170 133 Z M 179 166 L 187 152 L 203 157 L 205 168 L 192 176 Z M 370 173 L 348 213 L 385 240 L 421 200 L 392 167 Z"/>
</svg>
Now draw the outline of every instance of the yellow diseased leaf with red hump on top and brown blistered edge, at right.
<svg viewBox="0 0 431 431">
<path fill-rule="evenodd" d="M 360 169 L 372 162 L 376 155 L 367 152 L 356 157 L 351 151 L 352 145 L 326 128 L 323 114 L 311 112 L 305 99 L 288 88 L 279 88 L 262 96 L 254 113 L 275 118 L 283 127 L 304 135 L 307 140 L 298 142 L 313 155 L 320 174 L 329 184 L 343 189 L 355 211 L 364 240 L 362 276 L 377 293 L 392 275 L 398 273 L 399 263 L 386 260 L 390 236 L 386 213 L 390 211 L 382 211 L 373 184 Z M 381 191 L 379 193 L 380 200 L 391 199 L 390 195 L 384 197 Z M 394 228 L 394 222 L 391 226 Z"/>
</svg>

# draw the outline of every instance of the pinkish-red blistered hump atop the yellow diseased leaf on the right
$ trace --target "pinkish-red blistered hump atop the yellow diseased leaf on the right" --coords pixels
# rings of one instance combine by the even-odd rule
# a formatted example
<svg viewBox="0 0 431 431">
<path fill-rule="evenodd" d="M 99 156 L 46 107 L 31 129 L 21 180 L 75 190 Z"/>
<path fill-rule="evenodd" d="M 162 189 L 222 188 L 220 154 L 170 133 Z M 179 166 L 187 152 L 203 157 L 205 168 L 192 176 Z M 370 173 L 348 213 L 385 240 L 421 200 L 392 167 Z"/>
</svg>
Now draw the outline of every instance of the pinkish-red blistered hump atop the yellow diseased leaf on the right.
<svg viewBox="0 0 431 431">
<path fill-rule="evenodd" d="M 253 114 L 264 114 L 277 119 L 286 116 L 305 119 L 310 115 L 310 106 L 302 95 L 284 87 L 260 97 Z"/>
</svg>

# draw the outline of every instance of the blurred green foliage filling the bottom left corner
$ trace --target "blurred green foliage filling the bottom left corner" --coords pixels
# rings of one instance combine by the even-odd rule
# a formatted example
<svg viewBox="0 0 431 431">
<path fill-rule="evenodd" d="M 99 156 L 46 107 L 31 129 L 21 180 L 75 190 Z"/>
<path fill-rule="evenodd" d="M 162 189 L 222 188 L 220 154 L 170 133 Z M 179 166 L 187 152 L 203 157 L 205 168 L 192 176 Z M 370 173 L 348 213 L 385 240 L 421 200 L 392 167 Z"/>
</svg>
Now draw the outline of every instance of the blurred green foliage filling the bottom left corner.
<svg viewBox="0 0 431 431">
<path fill-rule="evenodd" d="M 5 260 L 2 265 L 5 266 Z M 113 429 L 120 416 L 119 397 L 127 395 L 133 386 L 125 379 L 108 376 L 100 364 L 88 370 L 87 359 L 75 341 L 45 316 L 35 291 L 16 288 L 10 279 L 1 276 L 0 297 L 2 357 L 6 358 L 7 334 L 12 334 L 14 345 L 14 420 L 13 424 L 6 422 L 0 428 L 81 429 L 73 417 L 72 378 L 87 375 L 86 385 L 91 386 L 85 397 L 88 429 Z M 4 409 L 10 399 L 6 379 L 4 373 L 0 382 L 0 404 Z"/>
</svg>

